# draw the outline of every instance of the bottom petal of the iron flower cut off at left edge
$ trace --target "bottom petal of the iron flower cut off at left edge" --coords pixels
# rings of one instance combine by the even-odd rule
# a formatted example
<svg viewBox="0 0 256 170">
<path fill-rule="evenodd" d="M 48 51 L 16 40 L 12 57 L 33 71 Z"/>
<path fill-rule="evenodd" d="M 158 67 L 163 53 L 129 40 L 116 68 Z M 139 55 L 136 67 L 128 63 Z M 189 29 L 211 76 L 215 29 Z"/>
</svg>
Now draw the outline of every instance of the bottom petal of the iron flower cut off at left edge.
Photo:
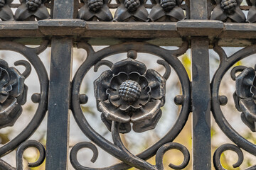
<svg viewBox="0 0 256 170">
<path fill-rule="evenodd" d="M 16 98 L 8 98 L 0 105 L 0 129 L 13 126 L 21 112 L 22 108 L 18 105 Z"/>
</svg>

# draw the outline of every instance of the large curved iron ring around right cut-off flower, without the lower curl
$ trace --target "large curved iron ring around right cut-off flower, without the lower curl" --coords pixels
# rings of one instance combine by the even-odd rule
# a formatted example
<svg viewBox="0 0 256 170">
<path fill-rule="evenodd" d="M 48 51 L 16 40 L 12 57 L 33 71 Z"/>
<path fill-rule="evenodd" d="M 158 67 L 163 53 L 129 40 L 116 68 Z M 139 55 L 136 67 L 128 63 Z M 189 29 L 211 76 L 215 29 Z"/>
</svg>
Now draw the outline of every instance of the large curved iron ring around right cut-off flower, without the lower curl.
<svg viewBox="0 0 256 170">
<path fill-rule="evenodd" d="M 228 57 L 225 54 L 225 51 L 223 48 L 219 47 L 218 45 L 215 45 L 214 47 L 215 52 L 218 53 L 220 56 L 220 65 L 215 72 L 213 76 L 213 80 L 211 82 L 211 91 L 212 91 L 212 113 L 213 117 L 215 118 L 216 123 L 220 127 L 220 129 L 225 133 L 225 135 L 232 140 L 235 145 L 240 147 L 241 149 L 244 149 L 245 151 L 249 152 L 250 154 L 253 154 L 256 156 L 256 145 L 254 145 L 252 142 L 249 142 L 244 137 L 238 134 L 232 126 L 228 123 L 228 120 L 225 119 L 225 116 L 223 115 L 223 112 L 220 109 L 220 96 L 219 96 L 219 88 L 221 80 L 223 79 L 224 74 L 230 69 L 236 62 L 242 60 L 245 57 L 248 57 L 250 55 L 253 55 L 256 53 L 256 46 L 250 45 L 248 47 L 243 48 L 242 50 L 239 50 L 238 52 L 235 52 L 235 54 Z M 239 69 L 244 69 L 244 67 L 237 67 L 236 69 L 233 69 L 231 72 L 231 77 L 235 79 L 234 72 L 239 71 Z M 226 145 L 224 146 L 226 149 Z"/>
</svg>

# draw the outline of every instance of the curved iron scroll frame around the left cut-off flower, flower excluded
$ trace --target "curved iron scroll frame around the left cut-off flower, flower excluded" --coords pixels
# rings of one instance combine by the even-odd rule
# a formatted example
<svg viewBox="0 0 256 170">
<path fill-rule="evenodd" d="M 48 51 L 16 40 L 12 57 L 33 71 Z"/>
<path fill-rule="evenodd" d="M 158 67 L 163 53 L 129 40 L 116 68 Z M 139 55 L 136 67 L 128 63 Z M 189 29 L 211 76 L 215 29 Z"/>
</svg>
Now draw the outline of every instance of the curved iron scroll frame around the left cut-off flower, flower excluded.
<svg viewBox="0 0 256 170">
<path fill-rule="evenodd" d="M 18 44 L 16 42 L 10 42 L 10 41 L 0 41 L 0 50 L 9 50 L 18 52 L 19 54 L 23 55 L 23 57 L 26 57 L 28 62 L 20 60 L 15 62 L 15 65 L 22 65 L 26 67 L 25 71 L 21 74 L 22 77 L 28 77 L 28 75 L 31 72 L 31 64 L 33 68 L 36 70 L 36 74 L 38 75 L 39 84 L 40 84 L 40 93 L 39 94 L 33 94 L 33 96 L 37 96 L 36 102 L 38 103 L 38 108 L 36 110 L 35 115 L 33 116 L 32 120 L 26 128 L 19 133 L 16 137 L 14 137 L 13 140 L 7 142 L 5 145 L 0 147 L 0 157 L 4 157 L 4 155 L 9 154 L 9 152 L 12 152 L 14 149 L 16 149 L 18 146 L 23 143 L 23 145 L 20 146 L 20 150 L 22 150 L 21 147 L 36 147 L 39 149 L 41 156 L 40 160 L 41 162 L 36 162 L 35 164 L 30 164 L 30 166 L 38 166 L 42 163 L 42 160 L 45 157 L 44 151 L 42 149 L 42 145 L 38 144 L 38 142 L 35 141 L 28 141 L 29 137 L 33 135 L 33 132 L 36 131 L 38 126 L 41 124 L 43 118 L 46 115 L 47 111 L 47 97 L 48 97 L 48 74 L 46 72 L 46 68 L 44 67 L 43 63 L 41 62 L 38 55 L 43 52 L 43 50 L 46 50 L 46 47 L 48 47 L 48 41 L 44 41 L 42 45 L 36 48 L 26 47 L 25 45 Z M 4 62 L 4 60 L 2 60 Z M 3 64 L 1 64 L 1 67 L 4 67 Z M 24 89 L 27 90 L 28 87 L 24 86 Z M 22 97 L 25 97 L 22 96 Z M 18 99 L 19 100 L 19 99 Z M 24 103 L 24 100 L 21 100 L 22 104 Z M 25 100 L 26 102 L 26 100 Z M 14 122 L 15 123 L 15 122 Z M 3 126 L 4 127 L 4 126 Z M 17 154 L 21 154 L 21 152 L 17 152 Z M 20 157 L 18 157 L 19 163 Z M 17 162 L 17 163 L 18 163 Z M 11 166 L 9 166 L 7 163 L 5 163 L 2 159 L 0 159 L 0 167 L 5 167 L 4 169 L 14 169 Z M 17 169 L 23 169 L 21 166 L 17 166 Z"/>
</svg>

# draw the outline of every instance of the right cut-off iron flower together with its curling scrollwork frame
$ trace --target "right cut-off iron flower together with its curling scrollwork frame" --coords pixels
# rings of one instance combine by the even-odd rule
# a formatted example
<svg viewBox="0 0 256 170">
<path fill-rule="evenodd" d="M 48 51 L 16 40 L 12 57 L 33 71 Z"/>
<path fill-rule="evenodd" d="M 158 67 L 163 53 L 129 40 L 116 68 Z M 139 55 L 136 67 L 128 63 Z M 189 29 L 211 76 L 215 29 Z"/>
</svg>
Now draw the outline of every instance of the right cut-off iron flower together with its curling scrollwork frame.
<svg viewBox="0 0 256 170">
<path fill-rule="evenodd" d="M 221 130 L 225 133 L 225 135 L 232 140 L 235 145 L 225 144 L 219 147 L 214 154 L 213 162 L 215 169 L 223 170 L 223 166 L 220 164 L 220 154 L 225 152 L 226 150 L 232 150 L 238 154 L 238 162 L 234 164 L 234 167 L 240 166 L 243 161 L 243 154 L 241 149 L 249 152 L 256 156 L 256 145 L 252 142 L 249 142 L 244 137 L 238 134 L 231 125 L 228 123 L 228 120 L 225 119 L 223 112 L 220 109 L 220 105 L 225 105 L 226 101 L 223 100 L 223 96 L 219 96 L 218 91 L 220 87 L 220 82 L 223 79 L 224 74 L 230 69 L 236 62 L 242 60 L 245 57 L 253 55 L 256 53 L 255 45 L 250 45 L 248 47 L 235 52 L 235 54 L 228 57 L 225 54 L 223 48 L 215 45 L 215 52 L 220 56 L 220 65 L 217 71 L 214 74 L 213 80 L 211 82 L 212 89 L 212 112 L 213 117 L 215 118 L 216 123 L 220 127 Z M 236 74 L 240 72 L 240 74 Z M 231 78 L 236 81 L 236 91 L 233 95 L 235 100 L 235 107 L 238 111 L 242 111 L 241 118 L 242 121 L 251 129 L 255 130 L 254 120 L 254 109 L 255 103 L 253 101 L 254 96 L 254 77 L 255 70 L 252 68 L 247 68 L 243 66 L 234 67 L 231 71 Z M 240 149 L 241 148 L 241 149 Z M 247 168 L 247 170 L 255 169 L 256 166 L 251 166 Z"/>
</svg>

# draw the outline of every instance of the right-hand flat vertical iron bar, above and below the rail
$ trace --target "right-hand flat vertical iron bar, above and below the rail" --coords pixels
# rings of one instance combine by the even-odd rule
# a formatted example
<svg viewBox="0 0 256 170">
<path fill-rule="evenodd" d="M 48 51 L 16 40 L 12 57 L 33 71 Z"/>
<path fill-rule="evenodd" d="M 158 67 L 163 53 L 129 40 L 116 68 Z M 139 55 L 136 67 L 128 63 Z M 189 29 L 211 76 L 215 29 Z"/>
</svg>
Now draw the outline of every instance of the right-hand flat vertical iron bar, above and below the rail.
<svg viewBox="0 0 256 170">
<path fill-rule="evenodd" d="M 208 18 L 207 0 L 191 0 L 191 19 Z M 208 37 L 191 38 L 193 170 L 211 168 L 210 75 Z"/>
</svg>

